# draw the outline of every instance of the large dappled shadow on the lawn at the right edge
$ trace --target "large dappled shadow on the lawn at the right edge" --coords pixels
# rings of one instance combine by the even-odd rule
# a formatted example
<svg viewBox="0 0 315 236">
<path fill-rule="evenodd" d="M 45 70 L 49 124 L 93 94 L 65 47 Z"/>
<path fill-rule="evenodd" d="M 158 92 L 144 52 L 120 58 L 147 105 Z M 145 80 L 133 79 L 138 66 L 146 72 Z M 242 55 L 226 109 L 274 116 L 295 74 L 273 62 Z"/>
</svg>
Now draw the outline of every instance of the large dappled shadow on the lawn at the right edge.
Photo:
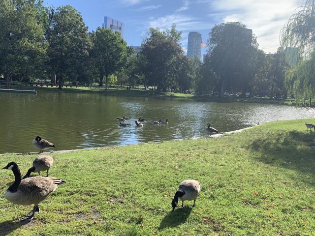
<svg viewBox="0 0 315 236">
<path fill-rule="evenodd" d="M 266 135 L 266 138 L 254 139 L 249 146 L 259 151 L 256 158 L 269 165 L 277 165 L 299 171 L 303 174 L 315 174 L 315 132 L 278 132 Z M 306 180 L 308 181 L 308 180 Z M 308 182 L 315 184 L 315 180 Z"/>
</svg>

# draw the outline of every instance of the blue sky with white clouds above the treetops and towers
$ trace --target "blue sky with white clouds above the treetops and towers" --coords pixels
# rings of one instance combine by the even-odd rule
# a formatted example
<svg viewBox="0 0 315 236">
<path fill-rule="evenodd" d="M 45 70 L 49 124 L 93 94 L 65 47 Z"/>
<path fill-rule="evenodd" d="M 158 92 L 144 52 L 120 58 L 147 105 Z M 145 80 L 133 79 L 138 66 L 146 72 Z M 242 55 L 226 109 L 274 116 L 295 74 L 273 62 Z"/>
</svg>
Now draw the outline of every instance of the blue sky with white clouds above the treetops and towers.
<svg viewBox="0 0 315 236">
<path fill-rule="evenodd" d="M 183 32 L 187 48 L 189 31 L 202 34 L 207 42 L 215 24 L 241 21 L 257 36 L 259 48 L 274 53 L 279 34 L 301 0 L 45 0 L 45 5 L 72 5 L 83 16 L 89 30 L 101 27 L 104 16 L 125 24 L 128 46 L 140 46 L 150 27 L 166 29 L 172 24 Z M 202 48 L 202 54 L 206 52 Z"/>
</svg>

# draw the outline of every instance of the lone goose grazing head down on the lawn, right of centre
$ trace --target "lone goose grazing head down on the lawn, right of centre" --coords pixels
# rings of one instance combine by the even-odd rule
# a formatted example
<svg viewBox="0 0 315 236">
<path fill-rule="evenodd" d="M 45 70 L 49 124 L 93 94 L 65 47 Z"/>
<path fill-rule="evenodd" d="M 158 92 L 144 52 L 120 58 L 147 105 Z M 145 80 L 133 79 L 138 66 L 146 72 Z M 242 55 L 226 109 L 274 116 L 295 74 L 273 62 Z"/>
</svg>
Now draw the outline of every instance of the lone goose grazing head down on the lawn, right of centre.
<svg viewBox="0 0 315 236">
<path fill-rule="evenodd" d="M 182 208 L 184 207 L 184 201 L 193 200 L 194 207 L 196 205 L 196 199 L 200 192 L 200 183 L 197 180 L 188 179 L 183 182 L 178 187 L 175 193 L 174 199 L 172 201 L 173 211 L 178 204 L 178 198 L 182 201 Z"/>
</svg>

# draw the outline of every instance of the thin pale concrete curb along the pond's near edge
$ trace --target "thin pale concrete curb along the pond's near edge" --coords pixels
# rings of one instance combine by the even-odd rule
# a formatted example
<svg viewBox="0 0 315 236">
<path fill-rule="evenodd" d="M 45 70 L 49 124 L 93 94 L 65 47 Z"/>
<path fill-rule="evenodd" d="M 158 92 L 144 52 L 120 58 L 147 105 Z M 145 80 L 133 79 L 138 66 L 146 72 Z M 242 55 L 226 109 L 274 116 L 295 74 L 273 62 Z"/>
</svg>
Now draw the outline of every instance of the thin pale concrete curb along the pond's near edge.
<svg viewBox="0 0 315 236">
<path fill-rule="evenodd" d="M 255 126 L 251 126 L 251 127 L 247 127 L 244 129 L 238 129 L 238 130 L 233 130 L 233 131 L 229 131 L 229 132 L 225 132 L 225 133 L 219 133 L 219 134 L 213 134 L 213 135 L 205 135 L 205 136 L 200 136 L 200 137 L 193 137 L 190 138 L 191 140 L 196 140 L 196 139 L 202 139 L 202 138 L 222 138 L 225 135 L 230 135 L 230 134 L 234 134 L 234 133 L 240 133 L 244 130 L 247 129 L 251 129 Z M 183 141 L 184 139 L 176 139 L 173 141 Z M 166 141 L 169 142 L 169 141 Z M 152 144 L 153 142 L 149 142 L 149 143 L 140 143 L 140 144 Z M 162 143 L 162 142 L 154 142 L 154 143 Z M 113 148 L 113 147 L 126 147 L 126 146 L 134 146 L 134 145 L 139 145 L 139 144 L 131 144 L 131 145 L 122 145 L 122 146 L 108 146 L 108 147 L 100 147 L 100 148 L 85 148 L 85 149 L 70 149 L 70 150 L 57 150 L 57 151 L 45 151 L 44 153 L 49 154 L 49 153 L 57 153 L 57 154 L 62 154 L 62 153 L 69 153 L 69 152 L 75 152 L 75 151 L 83 151 L 83 150 L 89 150 L 89 149 L 105 149 L 105 148 Z M 38 152 L 18 152 L 18 153 L 1 153 L 0 156 L 3 155 L 8 155 L 8 154 L 14 154 L 14 155 L 35 155 L 35 154 L 39 154 Z"/>
</svg>

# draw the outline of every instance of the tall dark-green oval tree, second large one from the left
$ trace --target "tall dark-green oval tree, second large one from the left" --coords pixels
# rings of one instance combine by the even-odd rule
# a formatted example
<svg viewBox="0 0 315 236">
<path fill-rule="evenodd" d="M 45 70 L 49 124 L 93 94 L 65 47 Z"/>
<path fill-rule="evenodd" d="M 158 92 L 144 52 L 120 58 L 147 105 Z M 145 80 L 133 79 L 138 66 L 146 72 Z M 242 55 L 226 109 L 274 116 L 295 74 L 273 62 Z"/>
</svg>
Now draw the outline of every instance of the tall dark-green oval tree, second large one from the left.
<svg viewBox="0 0 315 236">
<path fill-rule="evenodd" d="M 48 56 L 51 70 L 56 72 L 59 89 L 63 80 L 77 81 L 84 73 L 91 40 L 82 15 L 72 6 L 61 6 L 53 11 L 47 32 Z"/>
</svg>

